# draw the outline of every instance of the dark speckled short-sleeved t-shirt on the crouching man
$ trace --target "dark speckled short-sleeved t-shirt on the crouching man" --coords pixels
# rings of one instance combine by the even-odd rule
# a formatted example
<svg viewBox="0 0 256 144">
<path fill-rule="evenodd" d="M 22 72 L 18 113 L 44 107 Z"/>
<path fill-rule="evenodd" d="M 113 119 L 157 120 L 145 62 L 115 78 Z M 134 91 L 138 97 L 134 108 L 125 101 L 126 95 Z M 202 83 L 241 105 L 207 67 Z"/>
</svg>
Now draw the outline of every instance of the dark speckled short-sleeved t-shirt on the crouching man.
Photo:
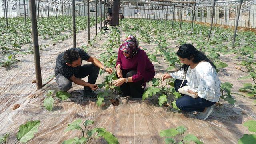
<svg viewBox="0 0 256 144">
<path fill-rule="evenodd" d="M 70 50 L 77 50 L 79 52 L 81 62 L 82 60 L 89 60 L 90 58 L 89 54 L 87 54 L 86 52 L 84 52 L 84 50 L 80 48 L 70 48 Z M 77 67 L 68 66 L 63 59 L 63 55 L 64 55 L 64 52 L 59 54 L 56 59 L 56 65 L 54 70 L 55 76 L 57 76 L 58 74 L 62 74 L 66 78 L 71 78 L 73 74 L 74 76 L 76 76 L 79 73 L 81 66 L 77 66 Z"/>
</svg>

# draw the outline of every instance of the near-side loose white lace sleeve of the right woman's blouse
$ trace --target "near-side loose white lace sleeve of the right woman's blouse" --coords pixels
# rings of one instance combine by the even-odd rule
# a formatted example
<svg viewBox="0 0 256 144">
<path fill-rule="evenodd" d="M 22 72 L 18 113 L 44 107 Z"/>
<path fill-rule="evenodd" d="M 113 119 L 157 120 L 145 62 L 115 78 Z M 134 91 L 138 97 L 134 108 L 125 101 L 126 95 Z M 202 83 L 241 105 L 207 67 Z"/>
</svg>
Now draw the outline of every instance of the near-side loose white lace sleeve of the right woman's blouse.
<svg viewBox="0 0 256 144">
<path fill-rule="evenodd" d="M 197 69 L 198 96 L 212 102 L 218 102 L 220 97 L 220 80 L 210 64 Z"/>
</svg>

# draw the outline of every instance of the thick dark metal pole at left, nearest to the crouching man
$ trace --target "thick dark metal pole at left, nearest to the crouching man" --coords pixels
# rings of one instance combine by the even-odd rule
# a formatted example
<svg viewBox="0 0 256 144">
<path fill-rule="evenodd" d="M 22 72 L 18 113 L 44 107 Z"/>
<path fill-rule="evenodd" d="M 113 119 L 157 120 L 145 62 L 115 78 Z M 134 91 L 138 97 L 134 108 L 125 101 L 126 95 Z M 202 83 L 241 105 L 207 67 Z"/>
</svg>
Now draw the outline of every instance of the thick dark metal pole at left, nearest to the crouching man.
<svg viewBox="0 0 256 144">
<path fill-rule="evenodd" d="M 37 87 L 37 90 L 39 90 L 40 88 L 42 88 L 42 77 L 41 77 L 35 0 L 29 0 L 29 9 L 30 9 L 30 18 L 31 18 L 31 32 L 32 32 L 32 40 L 33 40 L 34 61 L 35 61 L 36 87 Z"/>
</svg>

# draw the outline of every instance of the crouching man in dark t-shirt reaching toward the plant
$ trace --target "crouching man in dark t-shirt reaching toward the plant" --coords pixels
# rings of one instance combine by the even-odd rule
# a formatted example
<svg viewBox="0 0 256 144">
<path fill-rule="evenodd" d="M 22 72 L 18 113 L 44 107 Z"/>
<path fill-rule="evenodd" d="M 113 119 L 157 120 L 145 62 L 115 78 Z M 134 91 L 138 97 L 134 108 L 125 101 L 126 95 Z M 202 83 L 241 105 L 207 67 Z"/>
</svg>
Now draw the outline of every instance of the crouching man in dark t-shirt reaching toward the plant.
<svg viewBox="0 0 256 144">
<path fill-rule="evenodd" d="M 82 60 L 91 62 L 92 64 L 82 65 Z M 84 86 L 83 96 L 95 98 L 92 90 L 96 90 L 98 86 L 95 84 L 100 68 L 109 74 L 113 72 L 112 68 L 106 68 L 102 63 L 89 56 L 80 48 L 70 48 L 58 55 L 55 65 L 55 76 L 58 88 L 61 91 L 68 91 L 72 87 L 72 82 Z M 88 76 L 88 82 L 81 80 Z"/>
</svg>

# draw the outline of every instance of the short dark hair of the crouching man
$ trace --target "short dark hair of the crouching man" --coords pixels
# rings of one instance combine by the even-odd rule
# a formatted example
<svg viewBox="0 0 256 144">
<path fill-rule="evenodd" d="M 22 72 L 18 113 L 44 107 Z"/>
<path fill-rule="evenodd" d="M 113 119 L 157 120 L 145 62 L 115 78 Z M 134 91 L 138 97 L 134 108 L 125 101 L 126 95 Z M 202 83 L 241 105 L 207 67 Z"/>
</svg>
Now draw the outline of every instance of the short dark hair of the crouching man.
<svg viewBox="0 0 256 144">
<path fill-rule="evenodd" d="M 64 52 L 63 59 L 66 63 L 72 64 L 75 60 L 78 60 L 79 56 L 80 54 L 76 49 L 70 48 Z"/>
</svg>

